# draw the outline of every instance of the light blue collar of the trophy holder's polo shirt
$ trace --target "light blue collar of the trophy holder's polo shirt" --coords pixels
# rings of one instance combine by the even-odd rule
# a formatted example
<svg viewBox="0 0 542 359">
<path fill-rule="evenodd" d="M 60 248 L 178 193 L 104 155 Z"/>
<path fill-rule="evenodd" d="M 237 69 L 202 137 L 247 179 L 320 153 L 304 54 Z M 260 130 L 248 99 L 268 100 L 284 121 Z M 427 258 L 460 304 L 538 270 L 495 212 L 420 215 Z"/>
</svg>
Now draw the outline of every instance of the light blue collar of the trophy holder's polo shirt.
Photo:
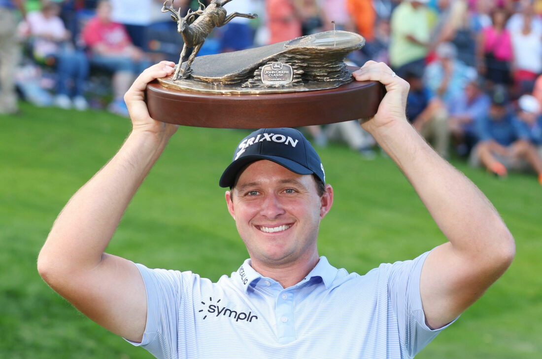
<svg viewBox="0 0 542 359">
<path fill-rule="evenodd" d="M 247 293 L 248 287 L 251 284 L 255 284 L 260 278 L 263 278 L 263 275 L 256 272 L 251 266 L 250 258 L 243 262 L 236 274 L 236 280 L 245 293 Z M 327 258 L 322 255 L 316 266 L 307 274 L 305 279 L 300 281 L 300 283 L 313 278 L 321 278 L 326 289 L 329 289 L 335 279 L 335 275 L 337 275 L 337 268 L 333 267 L 330 262 L 327 261 Z"/>
</svg>

